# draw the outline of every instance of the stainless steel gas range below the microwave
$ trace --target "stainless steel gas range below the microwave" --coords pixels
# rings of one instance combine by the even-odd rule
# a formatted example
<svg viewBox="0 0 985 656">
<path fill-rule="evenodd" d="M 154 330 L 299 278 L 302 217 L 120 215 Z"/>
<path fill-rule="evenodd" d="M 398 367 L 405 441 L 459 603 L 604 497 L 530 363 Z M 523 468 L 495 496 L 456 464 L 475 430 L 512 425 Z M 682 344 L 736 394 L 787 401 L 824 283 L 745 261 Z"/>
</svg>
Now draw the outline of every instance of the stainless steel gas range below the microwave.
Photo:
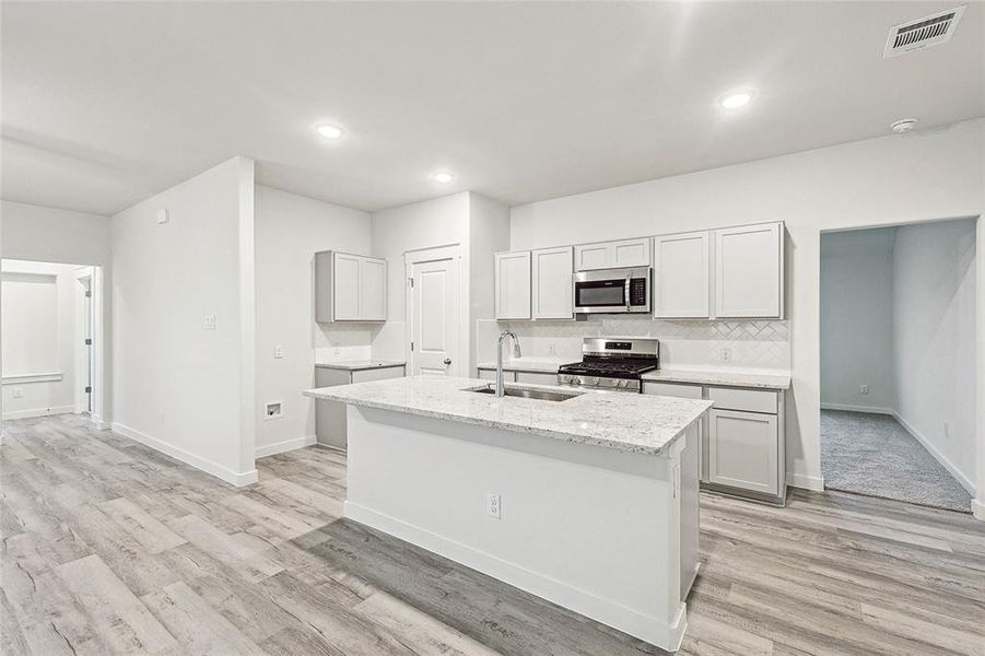
<svg viewBox="0 0 985 656">
<path fill-rule="evenodd" d="M 582 341 L 582 362 L 561 365 L 560 385 L 640 391 L 641 376 L 660 368 L 660 341 L 642 337 L 586 337 Z"/>
</svg>

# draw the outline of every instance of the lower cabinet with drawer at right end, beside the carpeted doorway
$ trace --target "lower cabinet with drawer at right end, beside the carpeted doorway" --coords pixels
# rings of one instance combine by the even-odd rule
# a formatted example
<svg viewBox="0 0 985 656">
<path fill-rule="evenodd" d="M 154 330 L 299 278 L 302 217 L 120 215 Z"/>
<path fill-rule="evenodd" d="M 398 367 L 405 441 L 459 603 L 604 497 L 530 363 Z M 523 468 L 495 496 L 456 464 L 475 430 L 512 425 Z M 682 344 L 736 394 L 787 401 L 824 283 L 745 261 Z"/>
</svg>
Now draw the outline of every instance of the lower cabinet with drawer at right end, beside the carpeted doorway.
<svg viewBox="0 0 985 656">
<path fill-rule="evenodd" d="M 764 494 L 779 492 L 775 414 L 712 410 L 708 481 Z"/>
</svg>

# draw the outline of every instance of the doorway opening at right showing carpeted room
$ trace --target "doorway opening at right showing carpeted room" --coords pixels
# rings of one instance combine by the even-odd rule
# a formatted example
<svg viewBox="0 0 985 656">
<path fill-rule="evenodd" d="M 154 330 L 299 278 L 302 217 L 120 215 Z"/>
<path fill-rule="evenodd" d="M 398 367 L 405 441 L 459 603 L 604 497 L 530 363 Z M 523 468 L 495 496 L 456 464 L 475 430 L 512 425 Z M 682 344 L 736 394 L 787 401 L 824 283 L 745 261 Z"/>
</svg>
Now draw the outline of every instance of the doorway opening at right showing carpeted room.
<svg viewBox="0 0 985 656">
<path fill-rule="evenodd" d="M 821 235 L 829 489 L 970 513 L 975 220 Z"/>
</svg>

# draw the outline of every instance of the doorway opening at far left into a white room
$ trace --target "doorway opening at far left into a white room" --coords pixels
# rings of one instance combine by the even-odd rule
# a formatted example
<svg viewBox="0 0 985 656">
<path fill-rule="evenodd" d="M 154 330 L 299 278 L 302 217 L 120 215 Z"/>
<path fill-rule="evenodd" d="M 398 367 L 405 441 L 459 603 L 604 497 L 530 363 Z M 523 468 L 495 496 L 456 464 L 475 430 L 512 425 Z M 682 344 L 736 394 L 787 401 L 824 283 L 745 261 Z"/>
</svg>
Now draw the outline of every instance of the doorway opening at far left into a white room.
<svg viewBox="0 0 985 656">
<path fill-rule="evenodd" d="M 0 261 L 2 420 L 97 414 L 99 267 Z"/>
</svg>

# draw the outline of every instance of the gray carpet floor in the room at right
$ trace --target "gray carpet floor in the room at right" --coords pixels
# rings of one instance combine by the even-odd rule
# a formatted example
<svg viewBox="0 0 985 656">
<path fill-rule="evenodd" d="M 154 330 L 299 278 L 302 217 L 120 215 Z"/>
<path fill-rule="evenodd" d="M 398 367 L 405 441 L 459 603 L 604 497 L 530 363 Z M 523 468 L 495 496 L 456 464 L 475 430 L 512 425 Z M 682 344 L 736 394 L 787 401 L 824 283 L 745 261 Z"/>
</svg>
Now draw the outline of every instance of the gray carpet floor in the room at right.
<svg viewBox="0 0 985 656">
<path fill-rule="evenodd" d="M 824 487 L 971 512 L 971 495 L 888 414 L 821 410 Z"/>
</svg>

